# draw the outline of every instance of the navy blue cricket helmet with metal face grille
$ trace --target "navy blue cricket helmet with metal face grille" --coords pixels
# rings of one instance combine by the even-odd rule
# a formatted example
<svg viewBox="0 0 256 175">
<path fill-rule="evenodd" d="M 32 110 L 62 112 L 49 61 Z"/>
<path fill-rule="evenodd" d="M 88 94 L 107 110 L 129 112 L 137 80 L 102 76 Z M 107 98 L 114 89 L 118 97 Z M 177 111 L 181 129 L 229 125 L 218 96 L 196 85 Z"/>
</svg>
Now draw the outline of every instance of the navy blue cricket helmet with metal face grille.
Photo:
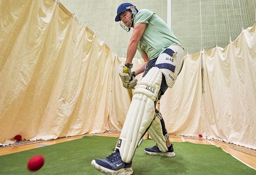
<svg viewBox="0 0 256 175">
<path fill-rule="evenodd" d="M 122 15 L 122 13 L 124 11 L 130 11 L 130 14 L 131 14 L 131 17 L 132 17 L 132 20 L 130 20 L 130 25 L 129 26 L 126 26 L 126 24 L 124 24 L 122 21 L 121 21 L 121 18 L 120 16 Z M 130 27 L 133 26 L 133 20 L 134 20 L 134 17 L 135 15 L 137 14 L 138 12 L 138 9 L 136 9 L 136 7 L 131 4 L 131 3 L 123 3 L 121 5 L 119 5 L 119 7 L 117 8 L 117 15 L 116 15 L 116 18 L 115 18 L 115 21 L 118 22 L 120 21 L 120 26 L 126 30 L 127 32 L 130 31 Z"/>
</svg>

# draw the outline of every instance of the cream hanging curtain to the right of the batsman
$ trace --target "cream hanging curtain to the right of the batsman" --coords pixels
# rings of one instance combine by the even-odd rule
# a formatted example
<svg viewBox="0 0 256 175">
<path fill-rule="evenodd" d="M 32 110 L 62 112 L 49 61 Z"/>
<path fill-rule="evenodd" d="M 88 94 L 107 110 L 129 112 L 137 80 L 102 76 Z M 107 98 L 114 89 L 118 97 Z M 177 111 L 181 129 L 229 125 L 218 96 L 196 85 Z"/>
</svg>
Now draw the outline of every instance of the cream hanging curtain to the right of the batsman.
<svg viewBox="0 0 256 175">
<path fill-rule="evenodd" d="M 243 30 L 224 49 L 186 55 L 160 103 L 170 133 L 256 148 L 255 28 Z"/>
</svg>

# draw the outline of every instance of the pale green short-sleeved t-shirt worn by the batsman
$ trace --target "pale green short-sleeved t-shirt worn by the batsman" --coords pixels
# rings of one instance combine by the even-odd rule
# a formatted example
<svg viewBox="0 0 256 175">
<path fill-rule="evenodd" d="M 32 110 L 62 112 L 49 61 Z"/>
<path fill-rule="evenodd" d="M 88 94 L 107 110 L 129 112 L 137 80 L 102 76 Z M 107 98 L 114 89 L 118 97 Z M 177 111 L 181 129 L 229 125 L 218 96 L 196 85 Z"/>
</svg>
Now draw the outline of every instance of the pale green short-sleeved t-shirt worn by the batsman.
<svg viewBox="0 0 256 175">
<path fill-rule="evenodd" d="M 138 45 L 138 51 L 141 55 L 147 53 L 149 60 L 157 58 L 174 43 L 181 45 L 166 23 L 150 10 L 140 10 L 134 18 L 134 26 L 136 23 L 147 23 Z"/>
</svg>

